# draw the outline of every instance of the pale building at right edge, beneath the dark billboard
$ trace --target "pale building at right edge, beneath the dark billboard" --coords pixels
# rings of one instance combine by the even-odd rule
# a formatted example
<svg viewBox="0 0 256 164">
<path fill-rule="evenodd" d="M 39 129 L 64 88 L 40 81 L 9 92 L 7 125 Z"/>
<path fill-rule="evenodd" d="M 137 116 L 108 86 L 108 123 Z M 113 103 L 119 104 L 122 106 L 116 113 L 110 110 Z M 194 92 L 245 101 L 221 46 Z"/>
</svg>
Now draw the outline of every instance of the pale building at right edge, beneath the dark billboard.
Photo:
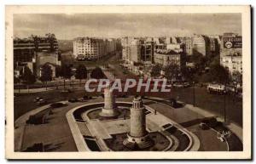
<svg viewBox="0 0 256 164">
<path fill-rule="evenodd" d="M 220 64 L 230 71 L 230 75 L 232 75 L 234 71 L 238 71 L 242 74 L 241 54 L 222 56 Z"/>
</svg>

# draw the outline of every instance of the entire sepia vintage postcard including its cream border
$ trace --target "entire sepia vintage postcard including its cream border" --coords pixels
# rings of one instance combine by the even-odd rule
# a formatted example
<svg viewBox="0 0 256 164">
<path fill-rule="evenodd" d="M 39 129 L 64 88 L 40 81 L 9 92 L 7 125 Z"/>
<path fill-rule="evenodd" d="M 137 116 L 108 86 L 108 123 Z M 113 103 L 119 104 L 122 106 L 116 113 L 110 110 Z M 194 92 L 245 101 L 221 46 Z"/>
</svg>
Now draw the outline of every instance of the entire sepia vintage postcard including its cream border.
<svg viewBox="0 0 256 164">
<path fill-rule="evenodd" d="M 250 11 L 6 6 L 6 158 L 251 159 Z"/>
</svg>

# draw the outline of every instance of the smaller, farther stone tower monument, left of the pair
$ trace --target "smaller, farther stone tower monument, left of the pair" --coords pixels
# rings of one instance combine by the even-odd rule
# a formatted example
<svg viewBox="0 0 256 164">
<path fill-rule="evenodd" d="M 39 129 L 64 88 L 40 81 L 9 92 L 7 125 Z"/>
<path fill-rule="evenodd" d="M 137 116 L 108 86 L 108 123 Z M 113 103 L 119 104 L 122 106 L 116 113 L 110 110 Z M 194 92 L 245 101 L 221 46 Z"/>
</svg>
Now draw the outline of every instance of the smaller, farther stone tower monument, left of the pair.
<svg viewBox="0 0 256 164">
<path fill-rule="evenodd" d="M 115 106 L 113 90 L 109 85 L 104 89 L 104 107 L 99 115 L 103 117 L 113 117 L 119 115 L 119 112 L 116 110 Z"/>
</svg>

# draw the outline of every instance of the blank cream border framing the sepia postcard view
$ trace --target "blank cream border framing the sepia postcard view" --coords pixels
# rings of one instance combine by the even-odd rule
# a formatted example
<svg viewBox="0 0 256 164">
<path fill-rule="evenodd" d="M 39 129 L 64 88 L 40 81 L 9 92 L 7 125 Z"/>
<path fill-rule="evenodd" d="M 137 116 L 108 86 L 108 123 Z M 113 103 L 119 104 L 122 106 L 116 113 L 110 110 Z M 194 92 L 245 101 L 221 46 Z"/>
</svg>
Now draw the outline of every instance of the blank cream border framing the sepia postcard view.
<svg viewBox="0 0 256 164">
<path fill-rule="evenodd" d="M 242 152 L 68 152 L 14 153 L 12 21 L 14 13 L 242 13 L 243 144 Z M 12 159 L 248 159 L 251 156 L 251 47 L 249 6 L 8 6 L 6 10 L 6 157 Z M 36 156 L 35 156 L 36 155 Z"/>
</svg>

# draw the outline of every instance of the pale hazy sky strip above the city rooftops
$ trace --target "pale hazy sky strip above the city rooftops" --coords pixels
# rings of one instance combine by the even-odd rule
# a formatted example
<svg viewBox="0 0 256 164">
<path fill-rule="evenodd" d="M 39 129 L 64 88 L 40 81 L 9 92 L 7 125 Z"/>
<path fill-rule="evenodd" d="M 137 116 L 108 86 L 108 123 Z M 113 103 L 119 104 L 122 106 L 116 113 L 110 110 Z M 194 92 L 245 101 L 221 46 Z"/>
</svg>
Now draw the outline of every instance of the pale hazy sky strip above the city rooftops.
<svg viewBox="0 0 256 164">
<path fill-rule="evenodd" d="M 15 37 L 162 37 L 241 34 L 241 14 L 15 14 Z"/>
</svg>

